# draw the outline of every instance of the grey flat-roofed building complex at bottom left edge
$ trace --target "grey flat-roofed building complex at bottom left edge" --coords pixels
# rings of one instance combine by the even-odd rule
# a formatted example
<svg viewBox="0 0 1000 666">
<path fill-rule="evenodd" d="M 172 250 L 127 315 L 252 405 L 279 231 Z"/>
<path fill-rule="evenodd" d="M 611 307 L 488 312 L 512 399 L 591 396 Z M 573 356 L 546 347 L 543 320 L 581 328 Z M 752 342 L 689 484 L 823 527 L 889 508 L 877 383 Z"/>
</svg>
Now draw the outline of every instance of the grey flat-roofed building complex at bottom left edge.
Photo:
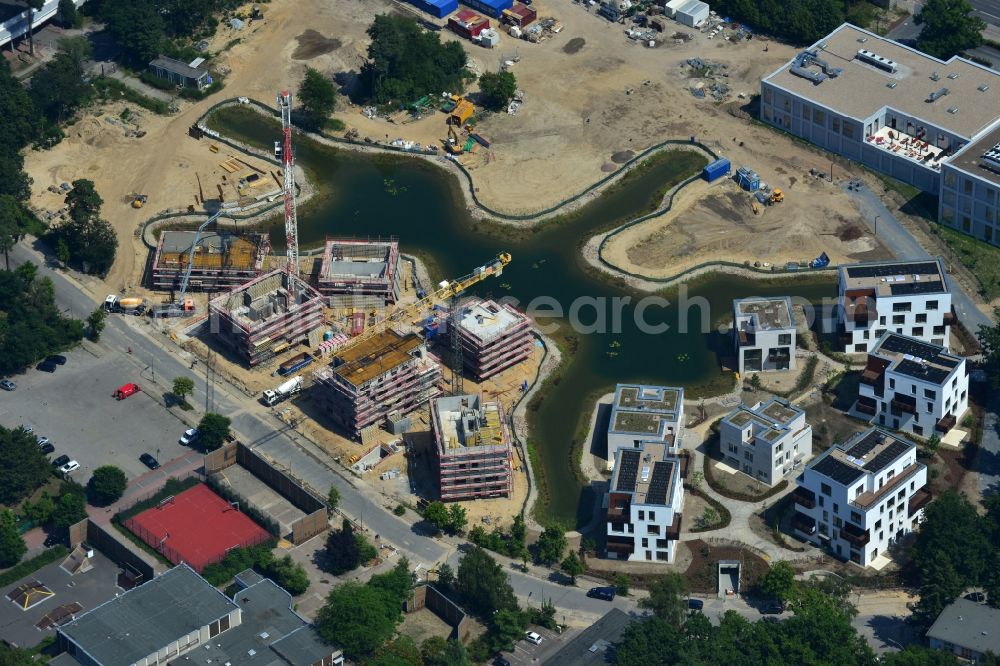
<svg viewBox="0 0 1000 666">
<path fill-rule="evenodd" d="M 237 576 L 237 587 L 230 599 L 181 564 L 63 625 L 58 642 L 84 666 L 343 663 L 292 610 L 288 592 L 266 578 L 245 585 Z"/>
</svg>

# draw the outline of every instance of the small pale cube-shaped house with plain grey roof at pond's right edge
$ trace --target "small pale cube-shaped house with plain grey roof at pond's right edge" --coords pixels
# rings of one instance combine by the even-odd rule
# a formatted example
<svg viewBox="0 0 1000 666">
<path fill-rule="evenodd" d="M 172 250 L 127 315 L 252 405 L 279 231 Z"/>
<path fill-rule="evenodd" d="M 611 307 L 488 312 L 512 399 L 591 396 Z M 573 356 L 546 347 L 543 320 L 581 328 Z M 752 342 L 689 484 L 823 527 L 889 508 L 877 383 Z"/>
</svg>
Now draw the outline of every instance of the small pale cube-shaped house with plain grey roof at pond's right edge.
<svg viewBox="0 0 1000 666">
<path fill-rule="evenodd" d="M 738 372 L 795 369 L 792 299 L 785 296 L 733 301 L 733 342 Z"/>
</svg>

